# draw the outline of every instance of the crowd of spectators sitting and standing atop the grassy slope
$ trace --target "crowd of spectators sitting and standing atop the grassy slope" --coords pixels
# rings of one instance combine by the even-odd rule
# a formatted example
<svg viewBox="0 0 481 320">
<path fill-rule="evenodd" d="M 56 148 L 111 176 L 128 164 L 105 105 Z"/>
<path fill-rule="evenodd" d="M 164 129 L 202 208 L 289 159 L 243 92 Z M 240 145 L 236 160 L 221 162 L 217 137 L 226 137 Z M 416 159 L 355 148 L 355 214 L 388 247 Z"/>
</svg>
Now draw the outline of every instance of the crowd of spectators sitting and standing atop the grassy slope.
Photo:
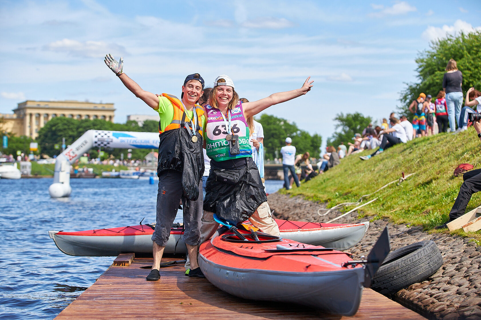
<svg viewBox="0 0 481 320">
<path fill-rule="evenodd" d="M 409 111 L 413 114 L 410 122 L 405 115 L 397 118 L 392 112 L 387 119 L 382 119 L 380 126 L 373 128 L 369 124 L 366 129 L 356 133 L 353 142 L 348 142 L 347 151 L 342 143 L 338 146 L 338 155 L 342 159 L 344 154 L 349 156 L 366 149 L 376 149 L 370 155 L 360 156 L 362 160 L 369 160 L 399 143 L 406 143 L 417 137 L 435 135 L 443 132 L 459 133 L 471 125 L 468 122 L 469 113 L 477 113 L 476 106 L 481 104 L 481 93 L 471 87 L 466 92 L 464 107 L 461 84 L 463 77 L 457 69 L 456 61 L 451 59 L 446 66 L 443 77 L 443 90 L 439 90 L 436 98 L 421 92 L 418 98 L 409 105 Z M 457 123 L 457 130 L 456 130 Z"/>
</svg>

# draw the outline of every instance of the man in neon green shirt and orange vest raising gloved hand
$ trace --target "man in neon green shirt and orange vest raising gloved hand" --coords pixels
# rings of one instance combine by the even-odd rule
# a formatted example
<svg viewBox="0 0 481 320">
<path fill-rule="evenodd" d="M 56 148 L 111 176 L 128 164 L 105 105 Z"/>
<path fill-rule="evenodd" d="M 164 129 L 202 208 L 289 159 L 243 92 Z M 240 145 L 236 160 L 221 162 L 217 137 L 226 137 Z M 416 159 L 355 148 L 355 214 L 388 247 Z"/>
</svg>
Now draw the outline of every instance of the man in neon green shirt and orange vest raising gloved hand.
<svg viewBox="0 0 481 320">
<path fill-rule="evenodd" d="M 160 261 L 181 199 L 184 204 L 184 242 L 190 258 L 189 276 L 204 277 L 197 262 L 197 252 L 203 212 L 202 145 L 205 116 L 203 108 L 196 104 L 203 95 L 204 81 L 200 74 L 190 74 L 182 86 L 181 99 L 166 94 L 163 94 L 163 97 L 157 97 L 143 90 L 123 73 L 123 58 L 117 62 L 111 54 L 108 54 L 104 62 L 127 89 L 157 111 L 160 116 L 157 221 L 152 234 L 153 265 L 146 279 L 159 280 Z M 201 190 L 200 196 L 199 190 Z"/>
</svg>

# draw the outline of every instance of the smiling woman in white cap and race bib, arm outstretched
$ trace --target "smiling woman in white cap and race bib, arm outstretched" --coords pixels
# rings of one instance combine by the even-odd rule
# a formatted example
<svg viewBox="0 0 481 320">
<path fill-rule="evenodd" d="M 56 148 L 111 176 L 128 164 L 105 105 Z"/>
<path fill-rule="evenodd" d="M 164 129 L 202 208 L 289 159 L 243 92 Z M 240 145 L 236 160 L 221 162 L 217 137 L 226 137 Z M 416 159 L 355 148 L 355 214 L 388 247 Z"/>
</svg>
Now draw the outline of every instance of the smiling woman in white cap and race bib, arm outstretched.
<svg viewBox="0 0 481 320">
<path fill-rule="evenodd" d="M 253 102 L 242 103 L 227 75 L 215 79 L 205 106 L 206 153 L 212 159 L 207 178 L 201 242 L 218 227 L 213 214 L 230 223 L 249 220 L 262 232 L 279 235 L 271 217 L 267 196 L 252 159 L 247 119 L 266 108 L 305 95 L 313 86 L 310 77 L 300 89 L 279 92 Z"/>
</svg>

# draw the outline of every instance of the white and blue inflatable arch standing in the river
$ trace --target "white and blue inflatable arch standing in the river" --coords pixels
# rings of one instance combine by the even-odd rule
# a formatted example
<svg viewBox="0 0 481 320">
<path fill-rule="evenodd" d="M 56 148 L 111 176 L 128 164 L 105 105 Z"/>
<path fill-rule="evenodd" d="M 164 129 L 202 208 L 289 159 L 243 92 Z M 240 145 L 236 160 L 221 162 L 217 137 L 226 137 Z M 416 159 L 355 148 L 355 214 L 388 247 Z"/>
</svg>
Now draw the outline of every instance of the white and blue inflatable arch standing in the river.
<svg viewBox="0 0 481 320">
<path fill-rule="evenodd" d="M 57 157 L 53 184 L 49 187 L 52 198 L 70 196 L 72 192 L 70 164 L 94 147 L 158 149 L 159 134 L 155 132 L 86 131 Z"/>
</svg>

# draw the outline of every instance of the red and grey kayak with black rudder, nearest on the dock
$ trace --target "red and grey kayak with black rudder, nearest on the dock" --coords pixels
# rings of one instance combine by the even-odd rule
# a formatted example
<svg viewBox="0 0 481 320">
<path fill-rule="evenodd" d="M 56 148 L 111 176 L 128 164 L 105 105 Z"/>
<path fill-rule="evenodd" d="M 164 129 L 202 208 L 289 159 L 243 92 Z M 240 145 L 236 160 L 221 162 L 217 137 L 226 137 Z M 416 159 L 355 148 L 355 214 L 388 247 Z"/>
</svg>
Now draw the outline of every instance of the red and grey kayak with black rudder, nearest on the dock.
<svg viewBox="0 0 481 320">
<path fill-rule="evenodd" d="M 249 241 L 223 227 L 200 246 L 199 266 L 209 282 L 245 299 L 301 304 L 347 316 L 357 312 L 363 288 L 371 285 L 389 252 L 387 231 L 387 243 L 380 241 L 382 248 L 375 246 L 374 254 L 362 261 L 333 248 L 235 232 Z"/>
</svg>

